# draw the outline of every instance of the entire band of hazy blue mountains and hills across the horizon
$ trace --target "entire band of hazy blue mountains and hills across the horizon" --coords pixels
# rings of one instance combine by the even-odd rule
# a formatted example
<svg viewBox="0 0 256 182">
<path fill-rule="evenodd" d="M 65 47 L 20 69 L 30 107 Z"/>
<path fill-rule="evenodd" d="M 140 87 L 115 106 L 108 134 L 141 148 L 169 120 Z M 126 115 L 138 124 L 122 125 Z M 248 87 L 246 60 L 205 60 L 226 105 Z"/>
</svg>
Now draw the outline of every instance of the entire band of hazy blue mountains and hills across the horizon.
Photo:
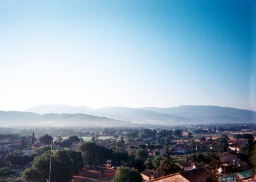
<svg viewBox="0 0 256 182">
<path fill-rule="evenodd" d="M 256 112 L 218 106 L 178 106 L 171 108 L 41 105 L 24 112 L 0 111 L 2 126 L 102 126 L 149 127 L 197 123 L 251 123 Z"/>
</svg>

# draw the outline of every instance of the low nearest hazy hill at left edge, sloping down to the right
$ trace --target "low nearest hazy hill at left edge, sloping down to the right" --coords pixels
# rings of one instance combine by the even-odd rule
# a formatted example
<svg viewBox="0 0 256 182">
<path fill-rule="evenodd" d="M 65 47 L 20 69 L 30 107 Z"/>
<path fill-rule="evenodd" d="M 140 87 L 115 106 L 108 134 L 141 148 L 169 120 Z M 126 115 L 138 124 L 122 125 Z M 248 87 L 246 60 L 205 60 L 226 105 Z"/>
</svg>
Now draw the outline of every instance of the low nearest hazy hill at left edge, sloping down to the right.
<svg viewBox="0 0 256 182">
<path fill-rule="evenodd" d="M 130 121 L 114 120 L 86 114 L 44 114 L 31 112 L 0 111 L 1 126 L 102 126 L 102 127 L 142 127 Z"/>
</svg>

